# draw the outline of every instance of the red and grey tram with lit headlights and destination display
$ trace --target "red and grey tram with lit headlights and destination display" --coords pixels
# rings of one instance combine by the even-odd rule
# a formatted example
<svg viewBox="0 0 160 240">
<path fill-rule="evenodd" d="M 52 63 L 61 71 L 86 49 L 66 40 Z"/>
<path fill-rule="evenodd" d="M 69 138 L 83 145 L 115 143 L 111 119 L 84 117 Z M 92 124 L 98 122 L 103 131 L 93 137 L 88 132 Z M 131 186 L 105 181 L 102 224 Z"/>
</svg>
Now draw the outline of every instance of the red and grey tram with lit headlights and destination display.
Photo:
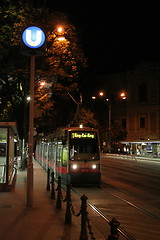
<svg viewBox="0 0 160 240">
<path fill-rule="evenodd" d="M 61 176 L 64 184 L 99 185 L 100 143 L 98 130 L 61 128 L 36 144 L 35 158 L 47 170 Z"/>
</svg>

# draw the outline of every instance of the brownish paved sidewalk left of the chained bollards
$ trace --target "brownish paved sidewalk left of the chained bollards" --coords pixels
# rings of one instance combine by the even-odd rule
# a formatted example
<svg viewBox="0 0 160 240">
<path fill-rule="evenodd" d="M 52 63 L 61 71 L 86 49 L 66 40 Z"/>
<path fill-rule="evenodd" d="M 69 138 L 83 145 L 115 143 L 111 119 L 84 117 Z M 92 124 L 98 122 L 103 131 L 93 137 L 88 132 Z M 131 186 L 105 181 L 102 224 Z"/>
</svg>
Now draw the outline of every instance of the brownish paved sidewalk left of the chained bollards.
<svg viewBox="0 0 160 240">
<path fill-rule="evenodd" d="M 65 225 L 65 207 L 46 191 L 46 172 L 34 161 L 34 207 L 26 208 L 27 172 L 18 171 L 15 191 L 0 192 L 0 240 L 77 240 L 79 221 Z"/>
</svg>

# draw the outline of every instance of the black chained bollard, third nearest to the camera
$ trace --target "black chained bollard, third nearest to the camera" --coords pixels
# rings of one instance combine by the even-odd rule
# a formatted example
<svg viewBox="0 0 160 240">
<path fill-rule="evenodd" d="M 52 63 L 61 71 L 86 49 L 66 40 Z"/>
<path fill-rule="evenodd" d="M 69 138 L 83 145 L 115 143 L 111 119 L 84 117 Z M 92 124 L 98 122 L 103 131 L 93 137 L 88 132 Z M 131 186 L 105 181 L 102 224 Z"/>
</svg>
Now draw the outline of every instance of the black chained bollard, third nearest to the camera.
<svg viewBox="0 0 160 240">
<path fill-rule="evenodd" d="M 71 214 L 71 186 L 70 184 L 67 185 L 67 192 L 66 192 L 66 213 L 65 213 L 65 224 L 71 224 L 72 221 L 72 214 Z"/>
</svg>

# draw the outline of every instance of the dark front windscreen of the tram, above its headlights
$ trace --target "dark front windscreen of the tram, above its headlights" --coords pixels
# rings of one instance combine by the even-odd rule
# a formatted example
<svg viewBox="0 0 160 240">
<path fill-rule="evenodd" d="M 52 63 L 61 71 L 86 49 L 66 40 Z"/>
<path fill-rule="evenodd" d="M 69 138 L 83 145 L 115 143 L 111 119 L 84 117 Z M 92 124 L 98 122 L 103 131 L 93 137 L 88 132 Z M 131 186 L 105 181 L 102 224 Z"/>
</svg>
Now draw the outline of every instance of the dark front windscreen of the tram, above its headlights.
<svg viewBox="0 0 160 240">
<path fill-rule="evenodd" d="M 73 133 L 72 133 L 73 134 Z M 98 140 L 96 133 L 81 137 L 83 135 L 71 135 L 70 159 L 71 160 L 97 160 L 99 157 Z M 74 137 L 75 136 L 75 137 Z M 79 136 L 79 137 L 78 137 Z"/>
</svg>

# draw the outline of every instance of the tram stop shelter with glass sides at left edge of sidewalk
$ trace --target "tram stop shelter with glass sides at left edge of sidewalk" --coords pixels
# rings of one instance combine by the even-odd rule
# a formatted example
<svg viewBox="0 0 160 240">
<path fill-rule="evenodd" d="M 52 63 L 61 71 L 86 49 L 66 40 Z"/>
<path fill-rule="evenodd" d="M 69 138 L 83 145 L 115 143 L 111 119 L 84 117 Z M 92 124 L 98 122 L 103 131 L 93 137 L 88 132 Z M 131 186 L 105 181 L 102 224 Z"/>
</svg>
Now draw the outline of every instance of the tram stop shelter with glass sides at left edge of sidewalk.
<svg viewBox="0 0 160 240">
<path fill-rule="evenodd" d="M 10 191 L 16 178 L 17 136 L 15 122 L 0 122 L 0 192 Z"/>
</svg>

